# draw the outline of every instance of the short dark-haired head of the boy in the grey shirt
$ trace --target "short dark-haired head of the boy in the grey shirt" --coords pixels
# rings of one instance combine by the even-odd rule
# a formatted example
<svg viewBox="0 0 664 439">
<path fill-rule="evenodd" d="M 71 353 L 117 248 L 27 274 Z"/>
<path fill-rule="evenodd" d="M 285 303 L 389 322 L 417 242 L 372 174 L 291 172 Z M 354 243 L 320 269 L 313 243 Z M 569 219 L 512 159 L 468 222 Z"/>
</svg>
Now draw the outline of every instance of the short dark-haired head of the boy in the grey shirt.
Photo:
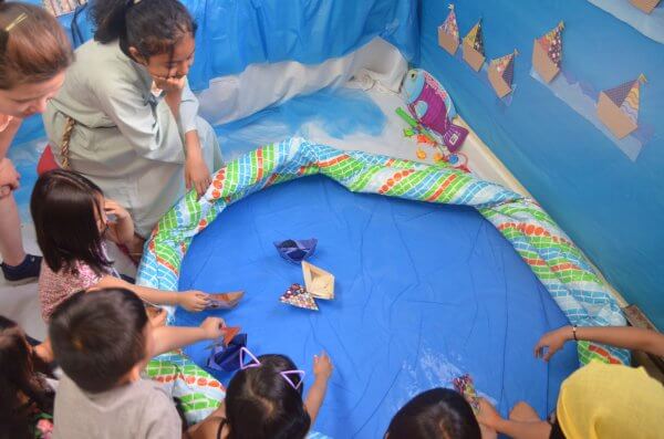
<svg viewBox="0 0 664 439">
<path fill-rule="evenodd" d="M 143 302 L 123 289 L 71 295 L 51 316 L 49 336 L 62 370 L 90 393 L 137 379 L 154 344 Z"/>
</svg>

